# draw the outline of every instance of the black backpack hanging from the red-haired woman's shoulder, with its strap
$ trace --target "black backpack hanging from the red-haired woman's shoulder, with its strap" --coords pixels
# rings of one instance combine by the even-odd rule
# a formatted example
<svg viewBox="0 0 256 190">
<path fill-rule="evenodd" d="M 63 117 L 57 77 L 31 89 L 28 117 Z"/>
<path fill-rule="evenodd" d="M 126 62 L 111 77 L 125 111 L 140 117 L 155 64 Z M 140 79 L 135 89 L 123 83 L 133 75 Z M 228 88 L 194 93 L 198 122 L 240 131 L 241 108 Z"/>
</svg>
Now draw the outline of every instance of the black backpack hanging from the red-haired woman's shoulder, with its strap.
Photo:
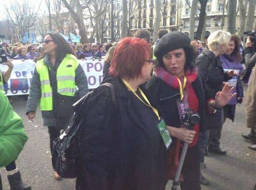
<svg viewBox="0 0 256 190">
<path fill-rule="evenodd" d="M 116 105 L 114 86 L 111 83 L 104 83 L 111 90 L 112 101 Z M 57 155 L 56 171 L 63 178 L 75 178 L 81 169 L 80 150 L 79 150 L 79 129 L 83 121 L 84 114 L 82 108 L 87 100 L 93 96 L 93 91 L 86 94 L 73 104 L 74 114 L 67 123 L 60 136 L 53 141 L 53 154 Z"/>
</svg>

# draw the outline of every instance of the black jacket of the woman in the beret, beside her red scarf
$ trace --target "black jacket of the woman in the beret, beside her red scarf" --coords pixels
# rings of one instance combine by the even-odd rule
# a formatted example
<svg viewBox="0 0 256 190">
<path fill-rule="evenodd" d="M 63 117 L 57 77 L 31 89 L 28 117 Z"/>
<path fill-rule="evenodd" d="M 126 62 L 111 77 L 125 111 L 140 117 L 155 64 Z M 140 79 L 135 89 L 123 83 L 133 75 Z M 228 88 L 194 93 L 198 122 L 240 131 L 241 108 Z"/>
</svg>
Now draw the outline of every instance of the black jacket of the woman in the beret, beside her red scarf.
<svg viewBox="0 0 256 190">
<path fill-rule="evenodd" d="M 199 75 L 192 83 L 192 86 L 199 100 L 200 130 L 202 131 L 204 130 L 206 99 L 203 83 Z M 177 107 L 177 99 L 180 99 L 180 91 L 171 88 L 156 75 L 152 75 L 151 79 L 148 80 L 145 89 L 146 95 L 152 105 L 163 112 L 165 123 L 169 126 L 180 127 L 180 116 Z"/>
</svg>

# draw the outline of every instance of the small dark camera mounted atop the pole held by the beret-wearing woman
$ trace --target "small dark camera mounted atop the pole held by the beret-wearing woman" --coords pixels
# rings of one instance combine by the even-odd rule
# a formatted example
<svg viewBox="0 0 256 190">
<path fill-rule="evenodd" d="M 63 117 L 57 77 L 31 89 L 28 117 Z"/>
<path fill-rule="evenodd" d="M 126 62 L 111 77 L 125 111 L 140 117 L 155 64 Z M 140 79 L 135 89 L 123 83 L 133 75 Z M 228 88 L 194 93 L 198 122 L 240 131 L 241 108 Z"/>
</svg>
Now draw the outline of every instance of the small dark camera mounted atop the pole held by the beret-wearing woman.
<svg viewBox="0 0 256 190">
<path fill-rule="evenodd" d="M 181 125 L 190 129 L 194 125 L 200 122 L 200 116 L 198 113 L 188 109 L 186 113 L 181 115 Z"/>
</svg>

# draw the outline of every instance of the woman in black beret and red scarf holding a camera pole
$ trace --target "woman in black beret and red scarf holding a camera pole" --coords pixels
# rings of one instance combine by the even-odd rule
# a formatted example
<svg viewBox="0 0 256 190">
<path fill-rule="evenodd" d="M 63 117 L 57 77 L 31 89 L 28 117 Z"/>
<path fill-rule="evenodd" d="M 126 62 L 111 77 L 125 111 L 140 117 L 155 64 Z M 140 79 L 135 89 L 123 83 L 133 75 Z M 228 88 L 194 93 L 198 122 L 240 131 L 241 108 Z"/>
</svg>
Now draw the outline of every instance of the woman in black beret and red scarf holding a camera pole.
<svg viewBox="0 0 256 190">
<path fill-rule="evenodd" d="M 147 82 L 146 95 L 152 105 L 163 111 L 173 144 L 168 149 L 167 177 L 174 179 L 182 142 L 189 143 L 187 155 L 182 168 L 184 181 L 181 189 L 201 189 L 198 139 L 199 132 L 204 130 L 205 107 L 214 111 L 214 105 L 222 107 L 229 100 L 232 88 L 228 85 L 219 92 L 215 100 L 205 94 L 203 82 L 194 66 L 194 49 L 189 37 L 181 32 L 165 34 L 155 47 L 157 58 L 155 72 Z M 209 101 L 207 101 L 209 99 Z M 208 102 L 208 103 L 206 103 Z M 192 110 L 200 116 L 200 123 L 193 130 L 188 130 L 181 122 L 186 110 Z"/>
</svg>

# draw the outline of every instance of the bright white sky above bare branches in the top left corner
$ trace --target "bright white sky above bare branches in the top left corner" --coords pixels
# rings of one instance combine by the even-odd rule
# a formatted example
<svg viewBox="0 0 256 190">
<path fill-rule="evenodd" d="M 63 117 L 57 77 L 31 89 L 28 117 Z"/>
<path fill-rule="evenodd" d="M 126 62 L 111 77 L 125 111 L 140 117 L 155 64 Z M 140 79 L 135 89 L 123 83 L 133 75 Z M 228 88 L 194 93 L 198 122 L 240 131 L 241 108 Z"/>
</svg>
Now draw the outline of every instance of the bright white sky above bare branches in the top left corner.
<svg viewBox="0 0 256 190">
<path fill-rule="evenodd" d="M 22 2 L 25 0 L 17 0 L 20 5 L 22 5 Z M 32 4 L 32 7 L 35 5 L 35 9 L 37 9 L 39 6 L 39 3 L 41 2 L 40 0 L 27 0 L 30 4 Z M 0 20 L 6 18 L 6 11 L 5 11 L 5 6 L 9 7 L 15 0 L 0 0 L 1 6 L 0 6 Z M 40 6 L 40 12 L 44 12 L 47 10 L 45 0 L 42 0 L 41 6 Z"/>
</svg>

